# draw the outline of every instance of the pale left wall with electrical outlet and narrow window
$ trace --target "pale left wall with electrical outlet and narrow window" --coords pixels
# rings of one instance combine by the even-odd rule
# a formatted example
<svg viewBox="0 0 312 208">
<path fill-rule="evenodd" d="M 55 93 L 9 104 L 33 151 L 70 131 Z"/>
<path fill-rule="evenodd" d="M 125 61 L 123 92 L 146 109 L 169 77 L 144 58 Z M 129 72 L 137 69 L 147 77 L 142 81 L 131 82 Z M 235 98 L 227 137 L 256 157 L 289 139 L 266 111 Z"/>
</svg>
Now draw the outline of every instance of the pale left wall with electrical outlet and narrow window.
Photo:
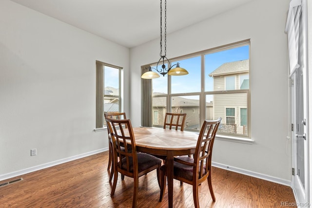
<svg viewBox="0 0 312 208">
<path fill-rule="evenodd" d="M 0 180 L 107 149 L 96 127 L 96 60 L 130 51 L 10 0 L 0 1 Z M 125 88 L 124 102 L 129 102 Z M 124 111 L 128 113 L 126 105 Z M 30 156 L 37 148 L 38 155 Z"/>
</svg>

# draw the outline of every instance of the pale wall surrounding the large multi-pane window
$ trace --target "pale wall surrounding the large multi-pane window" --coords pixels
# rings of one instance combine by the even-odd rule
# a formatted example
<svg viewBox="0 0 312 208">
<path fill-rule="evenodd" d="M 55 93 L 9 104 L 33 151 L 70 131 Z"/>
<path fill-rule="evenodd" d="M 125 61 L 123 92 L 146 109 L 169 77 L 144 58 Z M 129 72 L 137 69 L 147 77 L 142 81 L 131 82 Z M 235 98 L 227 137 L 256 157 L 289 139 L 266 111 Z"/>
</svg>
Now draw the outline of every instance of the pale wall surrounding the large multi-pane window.
<svg viewBox="0 0 312 208">
<path fill-rule="evenodd" d="M 289 131 L 287 36 L 284 33 L 288 5 L 287 0 L 254 0 L 168 34 L 167 55 L 178 57 L 251 38 L 251 135 L 254 143 L 216 140 L 213 162 L 290 184 L 291 142 L 287 146 L 286 141 Z M 167 19 L 167 27 L 170 27 L 170 19 Z M 131 49 L 130 112 L 134 126 L 140 125 L 140 66 L 156 62 L 158 58 L 158 39 Z"/>
</svg>

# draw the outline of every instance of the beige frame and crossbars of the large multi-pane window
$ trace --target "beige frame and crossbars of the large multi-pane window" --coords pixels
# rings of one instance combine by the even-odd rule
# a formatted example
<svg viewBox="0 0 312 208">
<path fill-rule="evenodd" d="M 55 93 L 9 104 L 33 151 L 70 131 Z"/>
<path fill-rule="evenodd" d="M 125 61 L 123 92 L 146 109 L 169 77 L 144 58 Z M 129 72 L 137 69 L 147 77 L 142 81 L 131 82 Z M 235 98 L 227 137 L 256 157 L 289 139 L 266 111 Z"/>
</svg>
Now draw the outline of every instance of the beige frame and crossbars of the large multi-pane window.
<svg viewBox="0 0 312 208">
<path fill-rule="evenodd" d="M 171 76 L 167 76 L 167 94 L 161 94 L 161 95 L 152 95 L 153 98 L 154 97 L 166 97 L 167 98 L 167 111 L 171 110 L 172 106 L 171 106 L 171 99 L 173 96 L 189 96 L 189 95 L 198 95 L 199 96 L 199 125 L 201 126 L 201 124 L 203 123 L 203 121 L 205 120 L 205 116 L 206 116 L 206 96 L 207 95 L 222 95 L 222 94 L 246 94 L 246 102 L 247 102 L 247 135 L 242 135 L 242 134 L 227 134 L 227 133 L 217 133 L 218 137 L 224 137 L 224 138 L 234 138 L 234 139 L 239 139 L 242 138 L 242 140 L 246 140 L 246 141 L 252 141 L 251 140 L 251 102 L 250 102 L 250 97 L 251 97 L 251 82 L 249 81 L 249 88 L 248 89 L 240 89 L 240 84 L 237 87 L 236 86 L 236 79 L 240 79 L 240 75 L 235 76 L 235 90 L 223 90 L 223 91 L 205 91 L 205 55 L 207 54 L 212 54 L 212 53 L 217 53 L 217 52 L 221 52 L 221 51 L 225 51 L 225 50 L 230 50 L 230 49 L 234 49 L 237 47 L 242 47 L 242 46 L 249 46 L 249 71 L 248 71 L 248 76 L 249 76 L 249 80 L 251 77 L 251 41 L 250 39 L 246 39 L 246 40 L 242 40 L 242 41 L 238 41 L 238 42 L 234 42 L 234 43 L 230 43 L 227 45 L 223 45 L 223 46 L 219 46 L 219 47 L 215 47 L 212 49 L 208 49 L 208 50 L 204 50 L 204 51 L 199 51 L 199 52 L 195 52 L 193 54 L 189 54 L 189 55 L 185 55 L 185 56 L 180 56 L 180 57 L 176 57 L 173 59 L 170 59 L 171 62 L 178 62 L 180 60 L 183 59 L 188 59 L 188 58 L 192 58 L 192 57 L 196 57 L 196 56 L 201 56 L 201 91 L 200 92 L 195 92 L 195 93 L 179 93 L 179 94 L 171 94 Z M 155 65 L 156 63 L 152 63 L 150 64 L 151 66 Z M 237 109 L 235 109 L 235 112 L 237 111 Z M 240 122 L 238 123 L 238 126 L 240 125 Z M 155 127 L 160 127 L 159 125 L 153 125 Z M 193 130 L 187 130 L 187 131 L 193 131 Z M 197 130 L 195 130 L 197 131 Z"/>
</svg>

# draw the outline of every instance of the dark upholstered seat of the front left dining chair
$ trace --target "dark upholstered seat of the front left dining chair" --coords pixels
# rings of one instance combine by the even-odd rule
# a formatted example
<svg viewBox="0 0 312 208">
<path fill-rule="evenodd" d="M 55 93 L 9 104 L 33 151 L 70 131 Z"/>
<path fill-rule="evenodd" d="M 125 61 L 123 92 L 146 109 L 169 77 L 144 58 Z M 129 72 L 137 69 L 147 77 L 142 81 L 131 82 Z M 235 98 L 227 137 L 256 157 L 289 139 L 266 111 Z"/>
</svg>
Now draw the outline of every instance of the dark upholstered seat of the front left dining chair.
<svg viewBox="0 0 312 208">
<path fill-rule="evenodd" d="M 138 172 L 142 172 L 144 170 L 148 170 L 155 165 L 160 165 L 161 160 L 157 157 L 145 154 L 145 153 L 137 153 L 137 165 L 138 165 Z M 127 170 L 127 162 L 126 158 L 122 159 L 122 169 Z M 129 167 L 130 171 L 133 172 L 133 160 L 132 157 L 129 157 Z"/>
</svg>

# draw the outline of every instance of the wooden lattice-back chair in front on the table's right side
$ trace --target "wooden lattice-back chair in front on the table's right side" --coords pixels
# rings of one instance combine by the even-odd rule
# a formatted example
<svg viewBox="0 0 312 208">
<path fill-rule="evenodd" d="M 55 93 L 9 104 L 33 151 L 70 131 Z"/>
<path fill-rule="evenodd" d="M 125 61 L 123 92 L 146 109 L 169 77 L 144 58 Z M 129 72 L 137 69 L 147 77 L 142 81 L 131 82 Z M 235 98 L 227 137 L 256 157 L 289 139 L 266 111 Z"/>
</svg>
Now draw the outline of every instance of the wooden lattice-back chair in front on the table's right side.
<svg viewBox="0 0 312 208">
<path fill-rule="evenodd" d="M 205 120 L 196 144 L 194 158 L 188 156 L 179 156 L 174 158 L 174 179 L 185 182 L 193 186 L 193 199 L 195 208 L 199 208 L 198 186 L 206 179 L 211 197 L 215 202 L 215 193 L 211 183 L 211 158 L 215 134 L 222 118 L 216 120 Z M 166 187 L 166 165 L 160 168 L 160 198 L 162 201 Z"/>
</svg>

